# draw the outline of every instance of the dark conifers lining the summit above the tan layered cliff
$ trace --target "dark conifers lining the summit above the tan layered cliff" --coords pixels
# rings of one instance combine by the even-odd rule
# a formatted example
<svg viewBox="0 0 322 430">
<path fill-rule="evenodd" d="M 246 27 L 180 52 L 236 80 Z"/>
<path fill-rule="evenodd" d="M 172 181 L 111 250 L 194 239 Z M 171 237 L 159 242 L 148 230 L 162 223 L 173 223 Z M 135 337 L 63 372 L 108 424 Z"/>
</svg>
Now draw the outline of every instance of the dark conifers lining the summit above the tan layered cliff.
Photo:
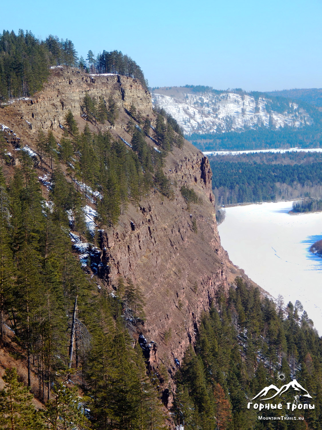
<svg viewBox="0 0 322 430">
<path fill-rule="evenodd" d="M 29 97 L 42 88 L 49 76 L 49 68 L 58 65 L 85 68 L 87 72 L 116 73 L 140 80 L 146 88 L 146 80 L 140 67 L 122 52 L 99 54 L 95 60 L 89 52 L 87 62 L 78 58 L 71 40 L 60 40 L 49 35 L 38 40 L 27 31 L 3 31 L 0 35 L 0 102 Z"/>
</svg>

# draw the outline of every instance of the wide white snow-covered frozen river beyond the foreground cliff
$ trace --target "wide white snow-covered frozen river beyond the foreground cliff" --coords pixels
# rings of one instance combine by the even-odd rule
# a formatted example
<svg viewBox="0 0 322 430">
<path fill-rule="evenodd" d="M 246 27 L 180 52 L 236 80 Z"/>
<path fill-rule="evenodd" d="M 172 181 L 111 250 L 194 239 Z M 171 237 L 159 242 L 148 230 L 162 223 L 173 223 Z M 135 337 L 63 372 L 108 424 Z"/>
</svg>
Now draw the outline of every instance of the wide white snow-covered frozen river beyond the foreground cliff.
<svg viewBox="0 0 322 430">
<path fill-rule="evenodd" d="M 322 258 L 309 249 L 322 239 L 322 212 L 289 215 L 292 202 L 226 208 L 219 225 L 234 264 L 274 298 L 300 300 L 322 334 Z"/>
</svg>

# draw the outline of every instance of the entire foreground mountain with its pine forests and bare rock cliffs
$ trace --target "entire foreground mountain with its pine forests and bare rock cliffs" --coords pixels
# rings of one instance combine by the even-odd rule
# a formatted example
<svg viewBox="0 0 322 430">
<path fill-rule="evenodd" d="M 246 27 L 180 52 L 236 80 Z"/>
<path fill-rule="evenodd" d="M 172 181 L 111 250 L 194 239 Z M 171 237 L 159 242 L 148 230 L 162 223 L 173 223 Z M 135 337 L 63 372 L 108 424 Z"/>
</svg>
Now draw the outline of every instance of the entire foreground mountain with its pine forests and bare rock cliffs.
<svg viewBox="0 0 322 430">
<path fill-rule="evenodd" d="M 0 427 L 320 429 L 312 321 L 229 261 L 209 161 L 152 110 L 138 66 L 78 60 L 52 36 L 1 40 Z M 93 77 L 109 71 L 124 75 Z M 302 172 L 289 160 L 276 175 Z M 316 408 L 265 426 L 247 401 L 279 371 Z"/>
</svg>

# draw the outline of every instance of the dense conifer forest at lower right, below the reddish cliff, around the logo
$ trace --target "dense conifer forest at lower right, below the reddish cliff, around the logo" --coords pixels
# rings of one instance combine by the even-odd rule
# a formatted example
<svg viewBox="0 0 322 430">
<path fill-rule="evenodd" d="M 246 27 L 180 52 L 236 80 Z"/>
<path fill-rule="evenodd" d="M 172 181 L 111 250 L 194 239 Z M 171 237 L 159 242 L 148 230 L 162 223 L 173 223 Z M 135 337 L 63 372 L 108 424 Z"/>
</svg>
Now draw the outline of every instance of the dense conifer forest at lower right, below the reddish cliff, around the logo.
<svg viewBox="0 0 322 430">
<path fill-rule="evenodd" d="M 299 301 L 295 306 L 289 302 L 285 310 L 282 297 L 276 306 L 241 278 L 235 283 L 236 289 L 231 287 L 227 295 L 219 290 L 216 307 L 201 319 L 197 342 L 176 374 L 176 425 L 185 430 L 321 429 L 321 338 L 307 312 Z M 285 374 L 285 382 L 278 380 L 278 372 Z M 280 387 L 295 378 L 313 397 L 300 397 L 299 402 L 315 404 L 314 409 L 293 411 L 297 420 L 258 420 L 258 415 L 290 415 L 285 410 L 286 402 L 294 402 L 290 392 L 269 401 L 273 407 L 283 403 L 282 410 L 263 409 L 258 414 L 247 409 L 263 387 Z"/>
</svg>

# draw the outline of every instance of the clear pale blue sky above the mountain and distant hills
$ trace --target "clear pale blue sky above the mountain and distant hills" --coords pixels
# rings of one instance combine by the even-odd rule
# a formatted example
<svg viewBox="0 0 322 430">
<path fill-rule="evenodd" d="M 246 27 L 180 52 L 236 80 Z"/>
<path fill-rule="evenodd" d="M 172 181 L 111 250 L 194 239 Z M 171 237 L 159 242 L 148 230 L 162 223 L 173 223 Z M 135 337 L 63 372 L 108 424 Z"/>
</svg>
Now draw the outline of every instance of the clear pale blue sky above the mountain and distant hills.
<svg viewBox="0 0 322 430">
<path fill-rule="evenodd" d="M 322 87 L 321 0 L 3 0 L 0 28 L 118 49 L 151 86 Z"/>
</svg>

